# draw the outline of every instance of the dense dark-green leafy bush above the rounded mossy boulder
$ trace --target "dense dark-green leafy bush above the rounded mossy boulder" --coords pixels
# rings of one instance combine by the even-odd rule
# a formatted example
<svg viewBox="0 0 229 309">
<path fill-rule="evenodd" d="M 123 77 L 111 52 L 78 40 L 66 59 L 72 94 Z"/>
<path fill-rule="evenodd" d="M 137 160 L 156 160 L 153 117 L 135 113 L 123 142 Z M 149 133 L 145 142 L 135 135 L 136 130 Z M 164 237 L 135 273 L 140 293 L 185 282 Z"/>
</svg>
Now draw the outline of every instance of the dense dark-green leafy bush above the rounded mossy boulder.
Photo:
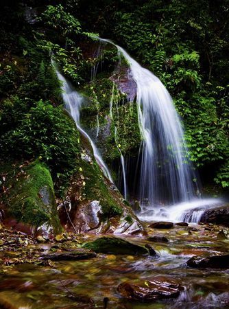
<svg viewBox="0 0 229 309">
<path fill-rule="evenodd" d="M 51 168 L 61 193 L 75 170 L 79 152 L 75 124 L 64 115 L 62 106 L 54 108 L 49 102 L 40 100 L 28 110 L 26 108 L 26 103 L 18 98 L 3 102 L 1 158 L 39 157 Z"/>
</svg>

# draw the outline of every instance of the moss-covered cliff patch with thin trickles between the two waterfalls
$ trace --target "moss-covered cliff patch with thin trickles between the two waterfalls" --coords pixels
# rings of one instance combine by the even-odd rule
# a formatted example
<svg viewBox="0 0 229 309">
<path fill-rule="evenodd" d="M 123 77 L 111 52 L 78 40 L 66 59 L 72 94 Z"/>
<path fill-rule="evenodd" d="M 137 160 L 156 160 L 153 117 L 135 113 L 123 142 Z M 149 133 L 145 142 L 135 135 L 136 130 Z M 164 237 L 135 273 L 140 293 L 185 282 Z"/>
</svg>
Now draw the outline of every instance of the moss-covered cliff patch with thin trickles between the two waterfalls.
<svg viewBox="0 0 229 309">
<path fill-rule="evenodd" d="M 82 125 L 95 136 L 99 123 L 97 144 L 102 145 L 104 159 L 108 163 L 118 159 L 119 149 L 123 155 L 136 156 L 141 144 L 136 102 L 129 102 L 126 95 L 117 89 L 117 85 L 108 76 L 93 80 L 82 88 L 81 92 L 86 102 L 81 113 Z"/>
</svg>

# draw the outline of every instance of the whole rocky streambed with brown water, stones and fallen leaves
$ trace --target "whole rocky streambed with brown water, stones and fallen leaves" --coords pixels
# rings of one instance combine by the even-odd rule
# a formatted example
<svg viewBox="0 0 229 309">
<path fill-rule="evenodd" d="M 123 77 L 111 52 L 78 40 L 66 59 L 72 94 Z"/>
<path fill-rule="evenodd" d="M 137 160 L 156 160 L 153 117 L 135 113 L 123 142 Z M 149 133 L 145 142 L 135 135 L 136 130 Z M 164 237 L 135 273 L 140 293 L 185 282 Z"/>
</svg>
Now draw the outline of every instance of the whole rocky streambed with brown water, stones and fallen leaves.
<svg viewBox="0 0 229 309">
<path fill-rule="evenodd" d="M 229 308 L 228 229 L 154 223 L 145 237 L 1 228 L 0 308 Z"/>
</svg>

